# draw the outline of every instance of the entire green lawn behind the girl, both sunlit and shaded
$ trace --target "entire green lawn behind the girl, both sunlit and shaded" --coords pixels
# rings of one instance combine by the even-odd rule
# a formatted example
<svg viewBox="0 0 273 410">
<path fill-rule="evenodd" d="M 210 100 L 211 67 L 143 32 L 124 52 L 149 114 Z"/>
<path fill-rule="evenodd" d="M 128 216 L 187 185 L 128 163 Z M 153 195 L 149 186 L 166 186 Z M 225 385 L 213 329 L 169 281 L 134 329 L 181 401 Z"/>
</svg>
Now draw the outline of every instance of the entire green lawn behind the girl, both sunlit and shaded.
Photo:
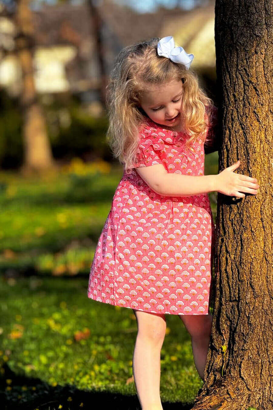
<svg viewBox="0 0 273 410">
<path fill-rule="evenodd" d="M 206 173 L 217 173 L 216 158 L 208 156 Z M 0 175 L 0 400 L 6 409 L 92 408 L 96 400 L 102 408 L 139 408 L 134 315 L 87 298 L 96 240 L 120 176 L 119 167 L 86 170 L 80 163 L 43 179 Z M 190 408 L 201 380 L 176 316 L 167 317 L 161 367 L 164 409 Z"/>
</svg>

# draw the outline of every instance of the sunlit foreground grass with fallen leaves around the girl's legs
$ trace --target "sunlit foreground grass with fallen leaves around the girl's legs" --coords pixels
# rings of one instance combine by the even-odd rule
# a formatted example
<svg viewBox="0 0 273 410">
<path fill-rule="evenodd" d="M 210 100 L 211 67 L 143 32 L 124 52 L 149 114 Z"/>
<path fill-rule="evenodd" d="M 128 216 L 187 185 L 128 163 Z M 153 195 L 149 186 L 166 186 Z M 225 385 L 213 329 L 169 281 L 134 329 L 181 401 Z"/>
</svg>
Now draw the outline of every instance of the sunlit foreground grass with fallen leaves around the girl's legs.
<svg viewBox="0 0 273 410">
<path fill-rule="evenodd" d="M 2 389 L 9 403 L 34 400 L 33 387 L 38 400 L 44 389 L 64 386 L 71 397 L 75 389 L 135 395 L 134 383 L 127 382 L 135 317 L 130 309 L 88 299 L 87 278 L 2 279 L 0 300 Z M 176 316 L 167 317 L 161 367 L 162 400 L 193 401 L 201 380 L 190 337 Z M 38 381 L 31 383 L 33 378 Z"/>
</svg>

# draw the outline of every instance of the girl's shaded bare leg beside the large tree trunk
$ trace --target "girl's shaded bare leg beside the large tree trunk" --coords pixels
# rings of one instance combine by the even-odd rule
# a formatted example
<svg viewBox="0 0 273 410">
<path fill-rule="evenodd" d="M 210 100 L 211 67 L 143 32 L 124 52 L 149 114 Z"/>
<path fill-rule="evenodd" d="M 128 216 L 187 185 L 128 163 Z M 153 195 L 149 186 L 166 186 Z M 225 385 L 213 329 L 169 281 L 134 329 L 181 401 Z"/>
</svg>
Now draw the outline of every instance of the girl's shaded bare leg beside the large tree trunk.
<svg viewBox="0 0 273 410">
<path fill-rule="evenodd" d="M 204 370 L 212 331 L 212 315 L 180 315 L 186 330 L 192 337 L 194 362 L 199 376 L 204 380 Z"/>
</svg>

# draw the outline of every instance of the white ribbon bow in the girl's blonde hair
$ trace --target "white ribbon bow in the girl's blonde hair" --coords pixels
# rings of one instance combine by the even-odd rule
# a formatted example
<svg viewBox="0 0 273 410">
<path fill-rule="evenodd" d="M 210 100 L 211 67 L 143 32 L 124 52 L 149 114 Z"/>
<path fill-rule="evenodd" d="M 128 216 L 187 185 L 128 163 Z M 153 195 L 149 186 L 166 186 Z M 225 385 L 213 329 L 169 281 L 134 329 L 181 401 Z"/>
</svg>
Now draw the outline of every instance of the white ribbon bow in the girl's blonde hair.
<svg viewBox="0 0 273 410">
<path fill-rule="evenodd" d="M 183 64 L 188 70 L 194 59 L 193 54 L 187 54 L 182 47 L 175 47 L 174 37 L 163 37 L 157 45 L 157 53 L 160 57 L 170 58 L 174 63 Z"/>
</svg>

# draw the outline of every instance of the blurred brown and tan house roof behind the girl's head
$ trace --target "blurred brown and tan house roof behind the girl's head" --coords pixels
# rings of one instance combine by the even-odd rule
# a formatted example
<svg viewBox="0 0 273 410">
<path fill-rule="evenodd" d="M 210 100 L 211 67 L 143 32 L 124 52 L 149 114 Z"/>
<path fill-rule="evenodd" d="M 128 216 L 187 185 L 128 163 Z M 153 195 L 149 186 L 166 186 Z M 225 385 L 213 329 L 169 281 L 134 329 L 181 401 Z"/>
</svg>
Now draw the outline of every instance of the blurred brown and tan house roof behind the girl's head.
<svg viewBox="0 0 273 410">
<path fill-rule="evenodd" d="M 103 22 L 106 60 L 109 62 L 122 47 L 151 37 L 173 35 L 178 45 L 195 54 L 193 67 L 215 65 L 214 0 L 189 11 L 159 8 L 155 13 L 144 14 L 104 0 L 98 10 Z M 33 12 L 33 16 L 36 46 L 72 45 L 78 49 L 80 58 L 92 58 L 94 39 L 87 3 L 43 5 Z M 4 33 L 3 25 L 7 25 L 7 20 L 2 20 L 0 31 L 4 42 L 10 33 Z"/>
</svg>

